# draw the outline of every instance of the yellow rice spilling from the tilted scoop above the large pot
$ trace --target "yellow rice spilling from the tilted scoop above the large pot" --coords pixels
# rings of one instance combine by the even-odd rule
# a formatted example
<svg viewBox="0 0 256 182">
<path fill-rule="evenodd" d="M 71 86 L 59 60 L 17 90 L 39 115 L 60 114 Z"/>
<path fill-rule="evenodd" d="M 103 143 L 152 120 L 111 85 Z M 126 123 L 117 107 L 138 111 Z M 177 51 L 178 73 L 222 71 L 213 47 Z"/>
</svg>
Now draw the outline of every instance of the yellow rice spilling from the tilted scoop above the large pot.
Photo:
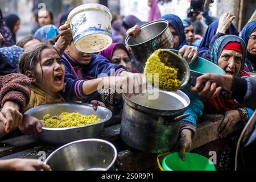
<svg viewBox="0 0 256 182">
<path fill-rule="evenodd" d="M 161 54 L 160 54 L 161 53 Z M 160 54 L 160 55 L 159 55 Z M 177 73 L 179 69 L 172 68 L 172 65 L 168 63 L 168 55 L 165 52 L 161 52 L 161 49 L 156 50 L 147 60 L 144 73 L 148 81 L 159 84 L 159 89 L 166 91 L 176 91 L 179 89 L 182 81 L 178 80 Z M 150 77 L 152 74 L 152 80 Z M 159 74 L 159 79 L 155 79 L 154 74 Z"/>
</svg>

